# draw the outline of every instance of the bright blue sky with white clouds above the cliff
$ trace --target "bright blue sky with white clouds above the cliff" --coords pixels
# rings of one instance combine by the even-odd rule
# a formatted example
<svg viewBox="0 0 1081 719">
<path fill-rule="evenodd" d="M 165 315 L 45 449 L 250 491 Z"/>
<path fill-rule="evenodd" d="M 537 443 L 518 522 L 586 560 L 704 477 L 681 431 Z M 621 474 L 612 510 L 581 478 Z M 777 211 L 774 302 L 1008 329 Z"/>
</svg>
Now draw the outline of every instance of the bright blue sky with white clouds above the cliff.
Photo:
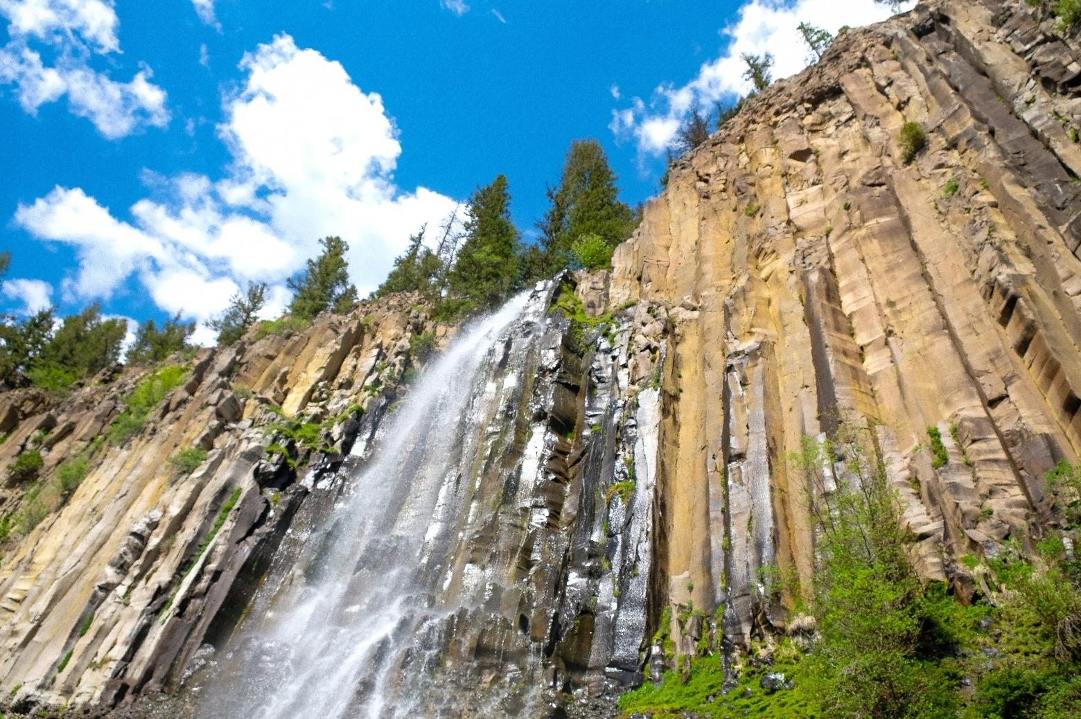
<svg viewBox="0 0 1081 719">
<path fill-rule="evenodd" d="M 529 237 L 579 137 L 601 142 L 633 204 L 657 190 L 689 107 L 745 90 L 740 52 L 772 51 L 783 77 L 804 64 L 801 19 L 888 14 L 872 0 L 0 0 L 0 309 L 97 301 L 202 322 L 262 280 L 277 314 L 326 234 L 350 242 L 363 293 L 411 231 L 499 173 Z"/>
</svg>

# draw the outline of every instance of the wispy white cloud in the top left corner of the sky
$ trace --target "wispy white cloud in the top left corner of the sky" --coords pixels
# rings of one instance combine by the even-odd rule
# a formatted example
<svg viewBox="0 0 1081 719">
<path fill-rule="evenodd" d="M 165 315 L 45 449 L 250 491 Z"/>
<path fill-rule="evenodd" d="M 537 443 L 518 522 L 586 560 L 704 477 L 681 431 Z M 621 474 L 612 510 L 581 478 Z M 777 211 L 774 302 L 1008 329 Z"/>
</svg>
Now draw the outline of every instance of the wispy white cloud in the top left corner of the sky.
<svg viewBox="0 0 1081 719">
<path fill-rule="evenodd" d="M 120 53 L 111 0 L 0 0 L 0 16 L 10 38 L 0 48 L 0 85 L 14 86 L 26 112 L 67 95 L 71 112 L 109 139 L 169 124 L 165 91 L 150 81 L 149 67 L 141 65 L 128 82 L 91 67 L 94 56 Z"/>
</svg>

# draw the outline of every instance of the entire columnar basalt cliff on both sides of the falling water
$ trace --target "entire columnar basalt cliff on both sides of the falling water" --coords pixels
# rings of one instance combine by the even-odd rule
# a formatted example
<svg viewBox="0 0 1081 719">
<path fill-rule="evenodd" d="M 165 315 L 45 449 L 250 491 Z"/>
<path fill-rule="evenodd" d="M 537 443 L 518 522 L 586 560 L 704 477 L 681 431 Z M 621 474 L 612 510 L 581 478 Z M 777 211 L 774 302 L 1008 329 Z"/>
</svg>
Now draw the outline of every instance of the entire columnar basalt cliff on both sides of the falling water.
<svg viewBox="0 0 1081 719">
<path fill-rule="evenodd" d="M 926 133 L 910 161 L 906 123 Z M 428 482 L 431 528 L 399 497 L 386 546 L 358 546 L 416 541 L 413 609 L 373 656 L 426 679 L 357 701 L 605 716 L 704 640 L 784 633 L 797 597 L 763 570 L 808 586 L 815 560 L 788 455 L 841 425 L 873 437 L 921 576 L 971 595 L 957 559 L 1039 538 L 1042 477 L 1081 453 L 1079 131 L 1081 50 L 1023 0 L 923 2 L 749 99 L 611 272 L 538 285 L 477 345 L 445 456 L 403 435 L 395 481 Z M 121 441 L 98 438 L 155 370 L 0 395 L 0 464 L 90 458 L 4 544 L 0 706 L 215 716 L 196 695 L 242 684 L 232 648 L 317 586 L 313 537 L 464 334 L 414 296 L 253 331 L 178 358 Z M 184 474 L 166 460 L 189 448 L 208 454 Z M 0 514 L 36 496 L 8 481 Z"/>
</svg>

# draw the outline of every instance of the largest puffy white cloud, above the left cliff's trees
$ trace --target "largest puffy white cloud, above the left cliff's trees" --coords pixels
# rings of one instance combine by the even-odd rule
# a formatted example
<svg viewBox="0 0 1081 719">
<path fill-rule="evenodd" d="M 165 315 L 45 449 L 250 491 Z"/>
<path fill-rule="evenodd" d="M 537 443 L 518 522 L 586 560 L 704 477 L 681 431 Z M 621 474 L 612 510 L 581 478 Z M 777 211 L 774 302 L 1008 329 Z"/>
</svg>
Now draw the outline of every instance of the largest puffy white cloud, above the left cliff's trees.
<svg viewBox="0 0 1081 719">
<path fill-rule="evenodd" d="M 57 187 L 18 208 L 16 224 L 35 237 L 77 249 L 66 292 L 108 297 L 135 275 L 159 307 L 204 323 L 246 281 L 265 281 L 267 312 L 277 314 L 289 299 L 284 280 L 320 251 L 320 238 L 349 243 L 351 279 L 364 294 L 410 234 L 455 209 L 432 190 L 398 187 L 397 129 L 382 97 L 361 91 L 339 63 L 282 35 L 240 67 L 245 82 L 224 97 L 217 128 L 232 154 L 219 178 L 144 173 L 150 192 L 128 219 L 82 188 Z M 213 337 L 203 324 L 197 338 Z"/>
</svg>

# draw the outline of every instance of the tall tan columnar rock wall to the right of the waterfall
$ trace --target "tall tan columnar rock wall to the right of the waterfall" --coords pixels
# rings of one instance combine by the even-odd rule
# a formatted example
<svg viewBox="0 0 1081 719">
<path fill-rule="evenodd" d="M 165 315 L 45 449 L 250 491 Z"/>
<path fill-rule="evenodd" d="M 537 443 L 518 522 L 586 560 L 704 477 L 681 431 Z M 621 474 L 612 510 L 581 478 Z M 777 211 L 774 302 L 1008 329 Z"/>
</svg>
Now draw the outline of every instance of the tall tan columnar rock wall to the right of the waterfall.
<svg viewBox="0 0 1081 719">
<path fill-rule="evenodd" d="M 953 558 L 1040 534 L 1041 478 L 1081 451 L 1081 53 L 1051 25 L 944 0 L 842 34 L 681 160 L 617 250 L 612 304 L 670 308 L 677 614 L 783 625 L 757 572 L 808 586 L 814 556 L 787 457 L 839 422 L 873 430 L 924 577 L 963 585 Z"/>
</svg>

